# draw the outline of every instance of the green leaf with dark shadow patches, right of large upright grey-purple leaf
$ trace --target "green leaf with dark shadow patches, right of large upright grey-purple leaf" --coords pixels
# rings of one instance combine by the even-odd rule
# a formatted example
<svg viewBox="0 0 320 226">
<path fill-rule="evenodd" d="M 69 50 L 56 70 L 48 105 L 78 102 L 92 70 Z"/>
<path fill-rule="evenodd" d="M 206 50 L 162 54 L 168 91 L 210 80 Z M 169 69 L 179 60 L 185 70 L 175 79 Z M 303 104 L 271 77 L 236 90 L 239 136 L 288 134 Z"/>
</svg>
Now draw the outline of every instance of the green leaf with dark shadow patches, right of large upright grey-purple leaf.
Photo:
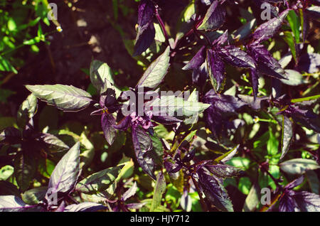
<svg viewBox="0 0 320 226">
<path fill-rule="evenodd" d="M 115 166 L 107 168 L 103 171 L 93 173 L 87 178 L 80 181 L 75 189 L 82 193 L 97 193 L 98 191 L 104 191 L 114 183 L 119 176 L 122 166 Z"/>
</svg>

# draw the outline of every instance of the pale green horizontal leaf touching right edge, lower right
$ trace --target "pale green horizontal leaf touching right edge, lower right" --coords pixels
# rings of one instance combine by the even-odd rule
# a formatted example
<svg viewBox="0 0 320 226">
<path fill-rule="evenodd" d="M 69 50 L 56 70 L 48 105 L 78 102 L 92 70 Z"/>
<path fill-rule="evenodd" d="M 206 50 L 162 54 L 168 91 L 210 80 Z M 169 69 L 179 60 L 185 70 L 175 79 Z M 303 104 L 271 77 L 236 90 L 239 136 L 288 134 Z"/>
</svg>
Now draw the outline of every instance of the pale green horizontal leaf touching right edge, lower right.
<svg viewBox="0 0 320 226">
<path fill-rule="evenodd" d="M 282 171 L 289 174 L 302 175 L 306 171 L 320 168 L 318 163 L 312 159 L 294 158 L 279 164 Z"/>
</svg>

